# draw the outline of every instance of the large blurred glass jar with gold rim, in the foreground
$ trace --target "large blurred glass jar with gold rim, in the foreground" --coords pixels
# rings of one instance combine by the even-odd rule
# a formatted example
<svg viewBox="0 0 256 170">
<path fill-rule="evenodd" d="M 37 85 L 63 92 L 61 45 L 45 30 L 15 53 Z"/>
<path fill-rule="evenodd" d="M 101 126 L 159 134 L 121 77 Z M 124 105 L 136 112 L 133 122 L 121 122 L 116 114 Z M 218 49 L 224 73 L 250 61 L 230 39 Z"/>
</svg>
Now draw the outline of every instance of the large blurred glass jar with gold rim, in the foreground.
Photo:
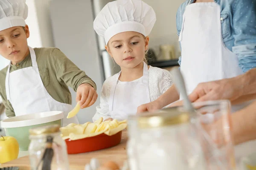
<svg viewBox="0 0 256 170">
<path fill-rule="evenodd" d="M 203 170 L 200 137 L 188 112 L 168 108 L 130 116 L 127 154 L 131 170 Z"/>
</svg>

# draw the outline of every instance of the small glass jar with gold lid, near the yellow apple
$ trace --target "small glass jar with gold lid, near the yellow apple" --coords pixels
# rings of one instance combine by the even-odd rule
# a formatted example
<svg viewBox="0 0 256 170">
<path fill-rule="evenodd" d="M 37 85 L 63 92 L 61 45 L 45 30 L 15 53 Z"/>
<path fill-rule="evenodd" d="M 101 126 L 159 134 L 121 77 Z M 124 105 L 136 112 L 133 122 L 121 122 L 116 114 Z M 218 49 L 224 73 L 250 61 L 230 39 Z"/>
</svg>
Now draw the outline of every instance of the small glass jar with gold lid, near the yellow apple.
<svg viewBox="0 0 256 170">
<path fill-rule="evenodd" d="M 69 170 L 67 146 L 59 128 L 48 125 L 29 130 L 31 170 Z"/>
</svg>

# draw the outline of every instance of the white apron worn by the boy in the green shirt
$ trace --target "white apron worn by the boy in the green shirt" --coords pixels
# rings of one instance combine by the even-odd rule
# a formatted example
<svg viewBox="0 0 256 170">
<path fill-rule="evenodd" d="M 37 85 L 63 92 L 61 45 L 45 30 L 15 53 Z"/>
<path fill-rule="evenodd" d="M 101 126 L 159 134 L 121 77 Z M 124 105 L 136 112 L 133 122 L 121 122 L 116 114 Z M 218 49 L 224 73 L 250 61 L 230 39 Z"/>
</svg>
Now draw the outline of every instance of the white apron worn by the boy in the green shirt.
<svg viewBox="0 0 256 170">
<path fill-rule="evenodd" d="M 6 73 L 6 95 L 11 102 L 15 116 L 29 113 L 63 111 L 63 126 L 69 123 L 79 124 L 76 116 L 67 119 L 67 114 L 72 110 L 69 104 L 56 101 L 49 95 L 41 80 L 35 51 L 29 47 L 32 67 L 22 68 L 10 73 L 10 65 Z"/>
</svg>

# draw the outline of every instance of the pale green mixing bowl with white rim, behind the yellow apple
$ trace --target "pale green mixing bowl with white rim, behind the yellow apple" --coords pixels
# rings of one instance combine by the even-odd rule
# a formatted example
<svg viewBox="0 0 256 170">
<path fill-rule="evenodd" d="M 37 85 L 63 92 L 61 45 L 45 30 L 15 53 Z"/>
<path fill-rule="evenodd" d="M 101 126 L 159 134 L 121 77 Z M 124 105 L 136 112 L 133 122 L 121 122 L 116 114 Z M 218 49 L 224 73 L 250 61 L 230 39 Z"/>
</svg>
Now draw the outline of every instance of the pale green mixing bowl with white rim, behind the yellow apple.
<svg viewBox="0 0 256 170">
<path fill-rule="evenodd" d="M 62 126 L 64 113 L 62 111 L 50 111 L 15 116 L 1 121 L 1 127 L 6 136 L 13 136 L 19 143 L 20 150 L 29 148 L 29 129 L 45 125 L 57 124 Z"/>
</svg>

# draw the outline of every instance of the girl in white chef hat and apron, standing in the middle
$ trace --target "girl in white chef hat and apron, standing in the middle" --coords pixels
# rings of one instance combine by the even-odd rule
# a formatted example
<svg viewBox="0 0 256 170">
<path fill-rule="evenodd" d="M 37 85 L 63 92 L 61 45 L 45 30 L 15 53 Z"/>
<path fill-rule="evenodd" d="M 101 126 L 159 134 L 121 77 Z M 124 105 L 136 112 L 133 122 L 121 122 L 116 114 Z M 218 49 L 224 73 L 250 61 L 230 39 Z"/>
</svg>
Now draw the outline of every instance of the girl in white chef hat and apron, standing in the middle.
<svg viewBox="0 0 256 170">
<path fill-rule="evenodd" d="M 108 3 L 94 20 L 95 31 L 105 37 L 105 48 L 121 71 L 105 80 L 93 121 L 127 119 L 139 105 L 154 101 L 172 85 L 169 71 L 145 62 L 155 21 L 153 8 L 142 0 Z"/>
</svg>

